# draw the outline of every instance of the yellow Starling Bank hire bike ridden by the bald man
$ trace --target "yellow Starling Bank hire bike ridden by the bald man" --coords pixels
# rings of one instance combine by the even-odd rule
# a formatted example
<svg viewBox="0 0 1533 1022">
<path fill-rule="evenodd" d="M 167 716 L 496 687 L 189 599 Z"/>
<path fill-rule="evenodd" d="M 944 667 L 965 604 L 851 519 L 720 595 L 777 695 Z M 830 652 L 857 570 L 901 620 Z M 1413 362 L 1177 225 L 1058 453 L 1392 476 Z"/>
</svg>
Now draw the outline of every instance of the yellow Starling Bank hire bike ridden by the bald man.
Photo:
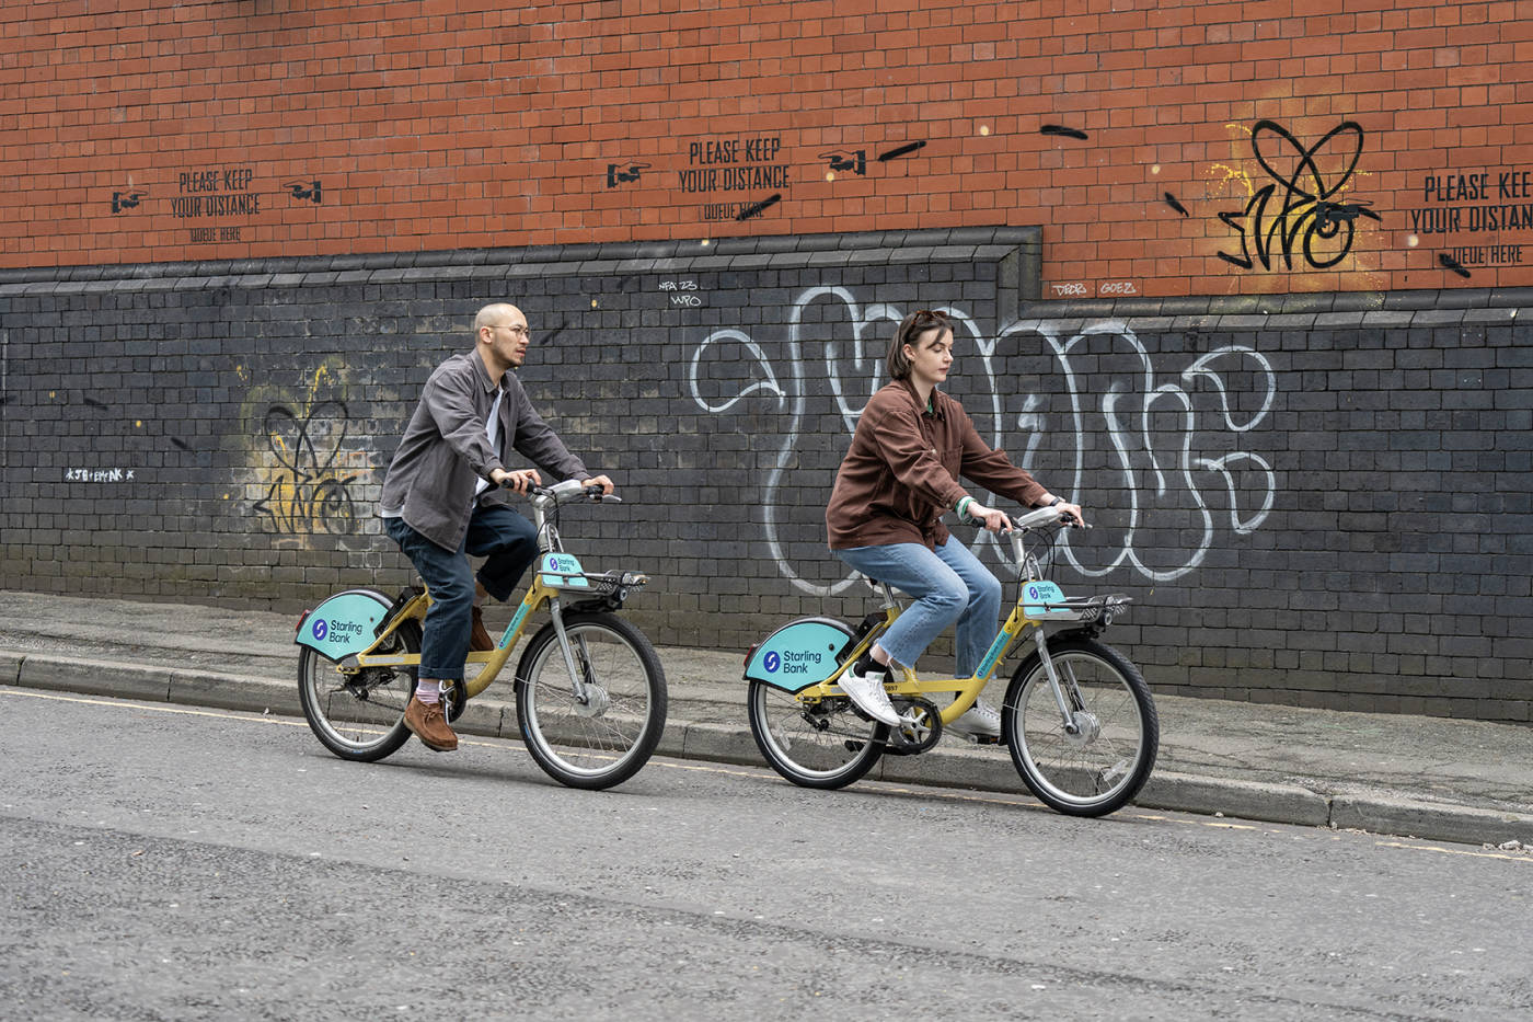
<svg viewBox="0 0 1533 1022">
<path fill-rule="evenodd" d="M 538 560 L 532 585 L 495 649 L 471 652 L 464 683 L 443 691 L 448 720 L 498 677 L 538 611 L 549 621 L 517 664 L 517 721 L 527 752 L 570 787 L 604 789 L 633 776 L 665 729 L 665 672 L 650 640 L 618 617 L 648 582 L 636 571 L 587 572 L 563 546 L 558 509 L 573 500 L 616 502 L 601 486 L 564 480 L 532 491 Z M 431 594 L 397 598 L 337 592 L 304 614 L 296 640 L 299 701 L 319 741 L 342 760 L 373 763 L 409 740 L 405 704 L 415 691 Z M 477 669 L 477 674 L 474 674 Z"/>
</svg>

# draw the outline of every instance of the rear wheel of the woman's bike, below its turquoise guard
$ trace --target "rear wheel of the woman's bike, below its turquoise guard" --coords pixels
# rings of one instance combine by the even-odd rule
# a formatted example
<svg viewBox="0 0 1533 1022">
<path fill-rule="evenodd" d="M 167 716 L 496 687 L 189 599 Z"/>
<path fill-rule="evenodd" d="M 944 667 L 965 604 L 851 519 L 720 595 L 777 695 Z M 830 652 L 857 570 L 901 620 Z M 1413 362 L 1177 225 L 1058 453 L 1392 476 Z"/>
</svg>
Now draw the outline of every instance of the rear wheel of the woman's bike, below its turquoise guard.
<svg viewBox="0 0 1533 1022">
<path fill-rule="evenodd" d="M 751 681 L 745 709 L 766 763 L 800 787 L 837 789 L 862 778 L 889 734 L 858 717 L 845 695 L 800 703 L 765 681 Z"/>
</svg>

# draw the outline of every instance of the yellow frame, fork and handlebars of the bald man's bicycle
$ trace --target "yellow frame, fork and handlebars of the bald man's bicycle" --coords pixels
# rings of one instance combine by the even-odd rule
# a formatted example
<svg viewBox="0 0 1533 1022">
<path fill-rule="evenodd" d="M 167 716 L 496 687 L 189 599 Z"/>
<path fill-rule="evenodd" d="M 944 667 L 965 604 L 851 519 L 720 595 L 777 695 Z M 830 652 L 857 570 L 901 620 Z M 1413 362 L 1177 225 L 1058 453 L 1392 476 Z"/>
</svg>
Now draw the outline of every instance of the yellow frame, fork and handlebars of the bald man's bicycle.
<svg viewBox="0 0 1533 1022">
<path fill-rule="evenodd" d="M 576 657 L 570 648 L 569 637 L 564 632 L 563 605 L 560 602 L 561 594 L 569 592 L 575 595 L 604 597 L 607 602 L 621 606 L 629 597 L 629 589 L 648 583 L 648 577 L 638 572 L 609 571 L 602 574 L 587 574 L 584 571 L 563 571 L 553 563 L 547 563 L 550 554 L 564 552 L 558 529 L 549 519 L 547 511 L 579 490 L 578 482 L 575 482 L 573 488 L 570 488 L 572 482 L 573 480 L 566 480 L 556 486 L 540 491 L 532 500 L 533 523 L 538 534 L 538 565 L 532 569 L 532 585 L 527 586 L 527 595 L 521 598 L 521 603 L 517 606 L 515 617 L 510 618 L 510 625 L 507 625 L 506 631 L 501 632 L 495 649 L 471 651 L 464 657 L 464 666 L 484 664 L 474 678 L 464 680 L 463 691 L 468 698 L 478 695 L 495 681 L 501 668 L 504 668 L 506 661 L 510 658 L 510 651 L 515 649 L 517 640 L 521 638 L 523 631 L 526 631 L 529 618 L 544 605 L 549 608 L 549 614 L 553 618 L 553 628 L 560 637 L 560 648 L 563 649 L 564 664 L 570 674 L 572 691 L 578 698 L 584 698 L 584 674 L 575 666 Z M 616 497 L 607 499 L 615 500 Z M 414 595 L 394 614 L 388 628 L 379 632 L 377 638 L 374 638 L 366 649 L 340 661 L 340 672 L 357 674 L 366 668 L 419 668 L 420 654 L 376 654 L 373 651 L 379 646 L 388 645 L 389 637 L 403 621 L 425 620 L 429 608 L 431 594 L 428 591 L 422 591 Z"/>
</svg>

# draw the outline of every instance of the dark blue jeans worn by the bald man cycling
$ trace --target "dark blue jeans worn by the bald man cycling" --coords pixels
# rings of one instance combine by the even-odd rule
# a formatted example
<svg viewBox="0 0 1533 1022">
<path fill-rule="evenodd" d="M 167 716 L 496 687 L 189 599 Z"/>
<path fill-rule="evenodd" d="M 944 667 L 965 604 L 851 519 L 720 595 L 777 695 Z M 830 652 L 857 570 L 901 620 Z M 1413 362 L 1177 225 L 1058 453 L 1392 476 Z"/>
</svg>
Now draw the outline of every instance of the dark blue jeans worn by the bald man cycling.
<svg viewBox="0 0 1533 1022">
<path fill-rule="evenodd" d="M 527 519 L 503 505 L 475 508 L 469 531 L 455 552 L 437 546 L 405 519 L 383 519 L 383 528 L 415 565 L 431 589 L 431 609 L 420 640 L 420 677 L 461 681 L 474 626 L 474 569 L 469 557 L 487 557 L 478 571 L 484 591 L 506 600 L 521 572 L 538 557 L 538 531 Z"/>
</svg>

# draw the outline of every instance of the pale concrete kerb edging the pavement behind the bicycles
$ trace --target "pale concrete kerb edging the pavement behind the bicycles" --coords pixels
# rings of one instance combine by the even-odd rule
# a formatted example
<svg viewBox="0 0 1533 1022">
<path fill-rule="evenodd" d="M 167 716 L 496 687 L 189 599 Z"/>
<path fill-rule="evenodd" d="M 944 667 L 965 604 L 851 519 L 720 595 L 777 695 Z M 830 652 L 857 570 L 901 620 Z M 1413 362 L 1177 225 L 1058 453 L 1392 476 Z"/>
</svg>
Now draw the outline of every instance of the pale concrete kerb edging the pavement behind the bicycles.
<svg viewBox="0 0 1533 1022">
<path fill-rule="evenodd" d="M 124 664 L 0 651 L 0 683 L 20 687 L 136 698 L 184 706 L 302 715 L 297 686 L 248 675 Z M 520 738 L 509 703 L 475 700 L 454 723 L 464 735 Z M 762 766 L 748 729 L 737 724 L 670 720 L 658 753 L 713 763 Z M 1010 757 L 998 749 L 934 749 L 920 757 L 885 757 L 871 775 L 903 784 L 1029 795 Z M 1325 795 L 1297 784 L 1157 772 L 1134 804 L 1145 809 L 1225 815 L 1303 827 L 1366 830 L 1458 844 L 1533 844 L 1533 816 L 1392 792 Z"/>
</svg>

